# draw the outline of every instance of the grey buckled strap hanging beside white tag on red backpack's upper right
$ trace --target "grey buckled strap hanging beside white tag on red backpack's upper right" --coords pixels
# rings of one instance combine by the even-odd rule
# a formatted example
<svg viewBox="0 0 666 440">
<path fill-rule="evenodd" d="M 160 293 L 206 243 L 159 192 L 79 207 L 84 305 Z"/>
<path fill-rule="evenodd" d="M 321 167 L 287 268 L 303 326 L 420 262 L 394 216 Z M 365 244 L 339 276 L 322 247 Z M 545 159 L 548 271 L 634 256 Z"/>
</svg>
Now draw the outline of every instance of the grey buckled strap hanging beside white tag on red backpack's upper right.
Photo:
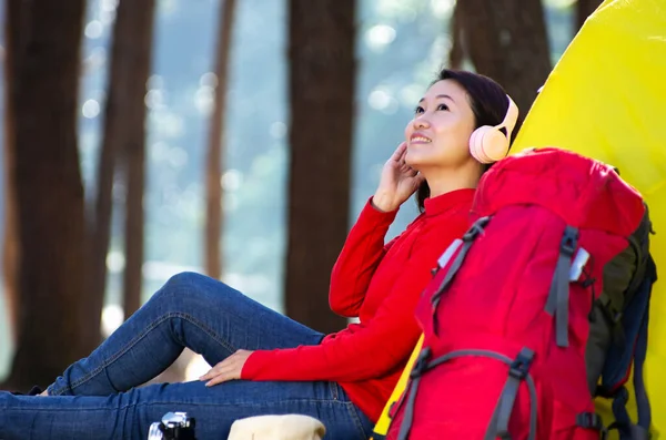
<svg viewBox="0 0 666 440">
<path fill-rule="evenodd" d="M 568 347 L 569 270 L 577 245 L 578 229 L 567 225 L 559 244 L 559 257 L 545 307 L 547 314 L 555 316 L 555 338 L 558 347 Z"/>
</svg>

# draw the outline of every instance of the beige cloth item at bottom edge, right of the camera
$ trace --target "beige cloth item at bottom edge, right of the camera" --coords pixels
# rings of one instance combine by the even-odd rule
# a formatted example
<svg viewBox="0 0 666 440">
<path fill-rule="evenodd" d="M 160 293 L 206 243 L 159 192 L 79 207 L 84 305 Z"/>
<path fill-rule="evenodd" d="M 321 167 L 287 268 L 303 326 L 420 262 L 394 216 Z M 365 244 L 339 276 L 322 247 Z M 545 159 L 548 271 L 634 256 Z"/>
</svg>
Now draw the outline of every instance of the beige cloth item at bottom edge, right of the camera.
<svg viewBox="0 0 666 440">
<path fill-rule="evenodd" d="M 231 426 L 228 440 L 322 440 L 324 424 L 309 416 L 258 416 Z"/>
</svg>

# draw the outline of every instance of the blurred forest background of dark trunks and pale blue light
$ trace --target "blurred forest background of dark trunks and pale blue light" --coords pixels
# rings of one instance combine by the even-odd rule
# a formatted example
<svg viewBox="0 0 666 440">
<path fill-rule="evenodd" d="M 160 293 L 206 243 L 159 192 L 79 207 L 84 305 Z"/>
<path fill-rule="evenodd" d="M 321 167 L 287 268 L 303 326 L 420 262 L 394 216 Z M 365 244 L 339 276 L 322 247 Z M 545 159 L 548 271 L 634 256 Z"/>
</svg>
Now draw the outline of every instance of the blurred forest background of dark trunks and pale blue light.
<svg viewBox="0 0 666 440">
<path fill-rule="evenodd" d="M 330 270 L 437 70 L 525 114 L 599 3 L 0 0 L 0 388 L 48 385 L 182 270 L 342 328 Z"/>
</svg>

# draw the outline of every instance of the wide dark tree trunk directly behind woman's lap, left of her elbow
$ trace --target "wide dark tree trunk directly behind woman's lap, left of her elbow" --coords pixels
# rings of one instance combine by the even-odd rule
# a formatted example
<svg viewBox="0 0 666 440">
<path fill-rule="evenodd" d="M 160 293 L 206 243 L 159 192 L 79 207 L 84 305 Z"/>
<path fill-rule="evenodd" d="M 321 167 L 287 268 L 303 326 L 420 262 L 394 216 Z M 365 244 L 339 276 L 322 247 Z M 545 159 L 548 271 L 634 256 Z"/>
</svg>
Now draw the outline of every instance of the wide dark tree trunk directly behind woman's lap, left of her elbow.
<svg viewBox="0 0 666 440">
<path fill-rule="evenodd" d="M 291 173 L 286 314 L 320 331 L 345 320 L 329 308 L 344 244 L 356 64 L 353 0 L 290 0 Z"/>
</svg>

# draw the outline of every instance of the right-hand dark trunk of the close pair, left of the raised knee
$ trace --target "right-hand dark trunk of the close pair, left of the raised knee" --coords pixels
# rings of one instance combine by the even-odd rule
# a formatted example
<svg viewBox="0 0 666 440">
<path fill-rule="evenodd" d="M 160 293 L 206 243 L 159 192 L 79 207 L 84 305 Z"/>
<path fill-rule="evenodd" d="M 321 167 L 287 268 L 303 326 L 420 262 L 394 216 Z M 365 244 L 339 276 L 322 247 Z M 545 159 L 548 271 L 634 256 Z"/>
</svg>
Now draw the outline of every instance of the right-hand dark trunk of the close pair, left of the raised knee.
<svg viewBox="0 0 666 440">
<path fill-rule="evenodd" d="M 127 10 L 122 10 L 123 7 Z M 124 316 L 127 318 L 141 307 L 143 285 L 145 93 L 152 65 L 155 0 L 122 0 L 119 9 L 119 20 L 124 13 L 130 22 L 127 25 L 133 27 L 129 38 L 123 35 L 123 41 L 128 44 L 123 49 L 131 50 L 127 57 L 128 62 L 131 63 L 132 78 L 125 91 L 125 106 L 121 109 L 125 113 L 123 125 L 127 130 L 121 145 L 128 180 L 124 269 Z"/>
</svg>

